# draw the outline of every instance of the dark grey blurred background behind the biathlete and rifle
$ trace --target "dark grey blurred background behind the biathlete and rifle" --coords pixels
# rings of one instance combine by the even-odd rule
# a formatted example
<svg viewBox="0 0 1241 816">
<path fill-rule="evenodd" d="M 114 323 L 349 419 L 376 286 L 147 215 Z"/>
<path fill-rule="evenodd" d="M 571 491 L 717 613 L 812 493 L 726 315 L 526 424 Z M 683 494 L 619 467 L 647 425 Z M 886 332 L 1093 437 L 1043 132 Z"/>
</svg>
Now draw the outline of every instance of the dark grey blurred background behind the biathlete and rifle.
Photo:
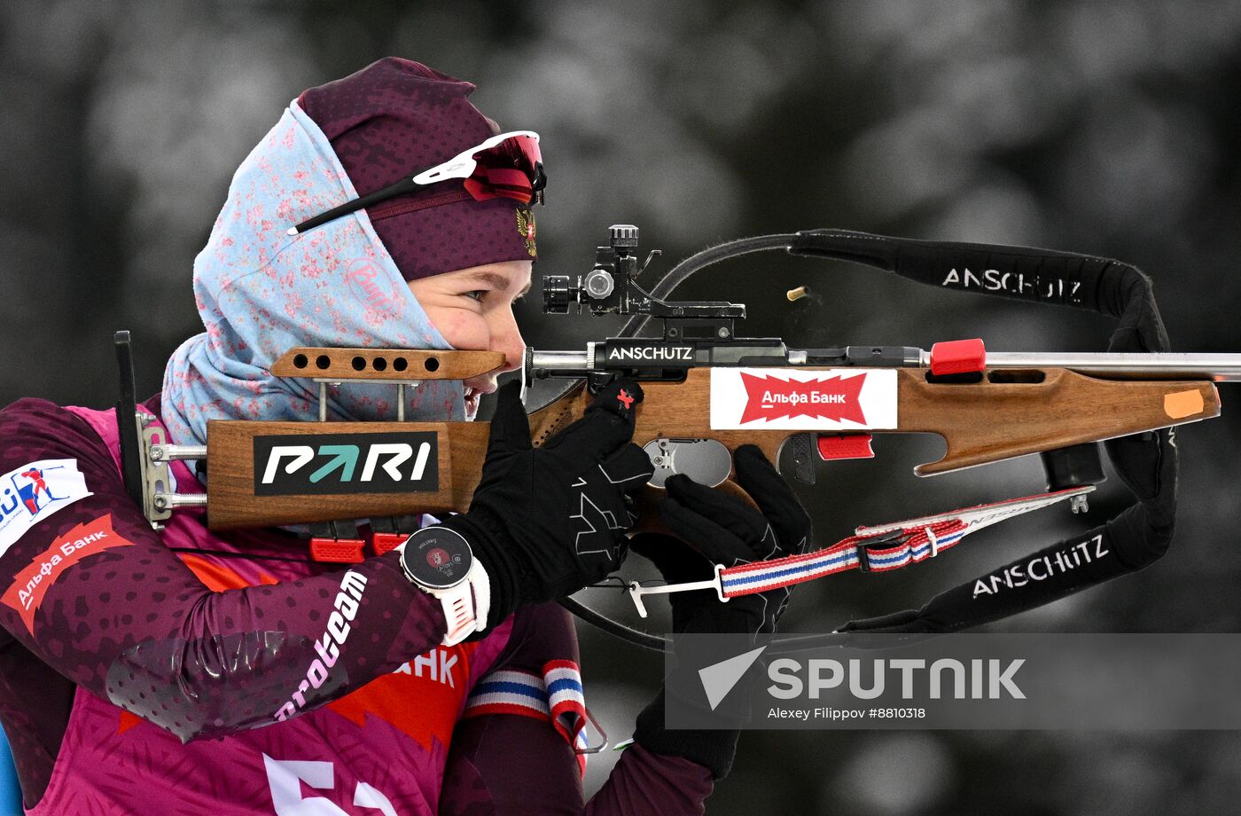
<svg viewBox="0 0 1241 816">
<path fill-rule="evenodd" d="M 1239 2 L 42 0 L 0 5 L 0 405 L 110 405 L 120 328 L 137 340 L 140 396 L 154 392 L 170 351 L 201 330 L 191 263 L 233 169 L 302 89 L 387 55 L 477 82 L 480 109 L 542 135 L 536 277 L 588 270 L 614 222 L 664 250 L 663 270 L 724 240 L 825 226 L 1034 245 L 1137 265 L 1175 350 L 1241 351 Z M 803 284 L 812 297 L 788 302 Z M 745 334 L 792 347 L 982 337 L 993 350 L 1086 351 L 1113 328 L 779 253 L 676 297 L 746 303 Z M 536 287 L 519 314 L 535 348 L 617 328 L 544 317 Z M 1178 435 L 1168 558 L 992 628 L 1237 631 L 1239 430 L 1234 414 Z M 911 467 L 942 442 L 875 448 L 799 486 L 819 542 L 1042 487 L 1036 460 L 917 479 Z M 1128 502 L 1113 478 L 1086 518 L 1045 510 L 903 574 L 807 585 L 783 628 L 918 606 Z M 589 600 L 634 620 L 617 597 Z M 624 739 L 661 662 L 585 623 L 580 635 L 587 699 Z M 591 791 L 614 760 L 592 759 Z M 1239 763 L 1232 732 L 747 733 L 709 812 L 1235 812 Z"/>
</svg>

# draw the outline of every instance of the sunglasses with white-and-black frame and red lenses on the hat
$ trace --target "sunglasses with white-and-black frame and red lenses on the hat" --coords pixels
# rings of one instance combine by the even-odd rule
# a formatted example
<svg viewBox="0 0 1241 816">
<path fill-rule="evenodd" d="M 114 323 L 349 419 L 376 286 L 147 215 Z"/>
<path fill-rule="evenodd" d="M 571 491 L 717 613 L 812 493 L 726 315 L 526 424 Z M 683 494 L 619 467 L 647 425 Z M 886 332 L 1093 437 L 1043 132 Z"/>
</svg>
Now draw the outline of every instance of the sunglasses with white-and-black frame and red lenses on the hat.
<svg viewBox="0 0 1241 816">
<path fill-rule="evenodd" d="M 539 153 L 539 134 L 534 130 L 513 130 L 494 135 L 417 175 L 401 179 L 396 184 L 352 201 L 345 201 L 338 207 L 289 227 L 288 232 L 299 235 L 343 215 L 449 179 L 463 179 L 465 191 L 478 201 L 505 197 L 522 204 L 536 201 L 541 204 L 547 176 L 544 174 L 542 155 Z"/>
</svg>

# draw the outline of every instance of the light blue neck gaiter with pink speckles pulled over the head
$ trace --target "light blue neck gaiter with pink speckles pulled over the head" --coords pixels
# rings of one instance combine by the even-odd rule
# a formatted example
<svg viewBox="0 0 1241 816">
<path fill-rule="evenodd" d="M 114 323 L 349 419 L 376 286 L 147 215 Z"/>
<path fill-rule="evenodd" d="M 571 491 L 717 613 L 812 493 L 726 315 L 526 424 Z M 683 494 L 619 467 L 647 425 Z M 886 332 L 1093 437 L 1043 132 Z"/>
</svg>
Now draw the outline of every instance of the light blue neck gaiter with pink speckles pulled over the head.
<svg viewBox="0 0 1241 816">
<path fill-rule="evenodd" d="M 452 348 L 410 292 L 365 212 L 303 235 L 289 226 L 357 195 L 319 127 L 297 102 L 233 175 L 194 262 L 206 332 L 174 351 L 161 411 L 174 442 L 202 445 L 208 420 L 307 420 L 318 388 L 279 379 L 297 345 Z M 408 421 L 465 419 L 459 380 L 406 394 Z M 396 419 L 396 386 L 329 386 L 334 420 Z"/>
</svg>

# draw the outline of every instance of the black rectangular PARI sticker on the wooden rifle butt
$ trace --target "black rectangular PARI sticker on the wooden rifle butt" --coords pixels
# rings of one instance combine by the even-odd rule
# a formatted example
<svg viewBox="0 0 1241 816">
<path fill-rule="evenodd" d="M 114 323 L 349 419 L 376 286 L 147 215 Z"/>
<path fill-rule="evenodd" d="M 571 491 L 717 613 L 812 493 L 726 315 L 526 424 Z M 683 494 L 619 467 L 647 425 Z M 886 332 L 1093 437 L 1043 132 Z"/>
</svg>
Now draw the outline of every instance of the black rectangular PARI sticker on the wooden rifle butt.
<svg viewBox="0 0 1241 816">
<path fill-rule="evenodd" d="M 439 489 L 434 432 L 254 437 L 254 496 Z"/>
</svg>

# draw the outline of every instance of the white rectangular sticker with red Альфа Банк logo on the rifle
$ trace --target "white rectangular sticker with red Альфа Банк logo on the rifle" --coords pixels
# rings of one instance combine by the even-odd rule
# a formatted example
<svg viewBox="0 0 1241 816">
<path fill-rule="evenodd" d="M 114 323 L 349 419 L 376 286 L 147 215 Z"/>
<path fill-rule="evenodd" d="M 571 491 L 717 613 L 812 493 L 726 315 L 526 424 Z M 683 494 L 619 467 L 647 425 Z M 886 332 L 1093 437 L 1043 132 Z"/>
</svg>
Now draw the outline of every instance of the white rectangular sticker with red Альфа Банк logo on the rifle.
<svg viewBox="0 0 1241 816">
<path fill-rule="evenodd" d="M 711 369 L 715 430 L 896 427 L 896 371 Z"/>
</svg>

